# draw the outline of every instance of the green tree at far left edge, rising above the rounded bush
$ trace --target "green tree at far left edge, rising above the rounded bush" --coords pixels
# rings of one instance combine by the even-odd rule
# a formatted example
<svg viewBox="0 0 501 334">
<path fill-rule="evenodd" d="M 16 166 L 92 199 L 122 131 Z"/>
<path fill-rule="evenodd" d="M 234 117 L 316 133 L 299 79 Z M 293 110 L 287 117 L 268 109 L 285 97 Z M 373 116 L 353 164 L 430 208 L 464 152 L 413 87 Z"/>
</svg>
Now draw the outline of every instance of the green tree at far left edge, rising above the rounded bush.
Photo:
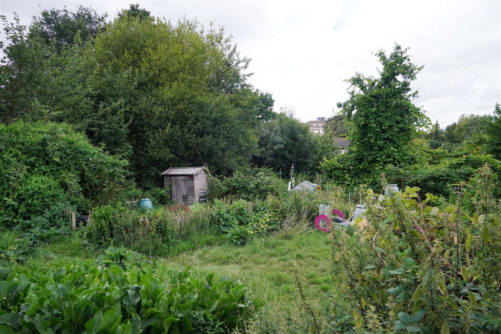
<svg viewBox="0 0 501 334">
<path fill-rule="evenodd" d="M 92 87 L 86 85 L 80 36 L 79 43 L 57 52 L 53 44 L 32 32 L 15 16 L 2 16 L 8 46 L 0 62 L 0 122 L 17 119 L 66 121 L 84 128 L 91 112 Z"/>
</svg>

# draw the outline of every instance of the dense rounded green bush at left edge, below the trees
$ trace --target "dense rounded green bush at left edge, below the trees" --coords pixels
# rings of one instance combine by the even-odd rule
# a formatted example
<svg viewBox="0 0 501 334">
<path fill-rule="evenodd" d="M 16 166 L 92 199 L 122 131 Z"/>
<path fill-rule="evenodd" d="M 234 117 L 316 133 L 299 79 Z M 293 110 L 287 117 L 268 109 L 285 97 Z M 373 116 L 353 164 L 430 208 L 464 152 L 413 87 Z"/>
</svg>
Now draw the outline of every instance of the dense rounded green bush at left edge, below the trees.
<svg viewBox="0 0 501 334">
<path fill-rule="evenodd" d="M 123 189 L 127 165 L 66 124 L 0 124 L 0 224 L 14 226 L 54 206 L 107 204 Z"/>
</svg>

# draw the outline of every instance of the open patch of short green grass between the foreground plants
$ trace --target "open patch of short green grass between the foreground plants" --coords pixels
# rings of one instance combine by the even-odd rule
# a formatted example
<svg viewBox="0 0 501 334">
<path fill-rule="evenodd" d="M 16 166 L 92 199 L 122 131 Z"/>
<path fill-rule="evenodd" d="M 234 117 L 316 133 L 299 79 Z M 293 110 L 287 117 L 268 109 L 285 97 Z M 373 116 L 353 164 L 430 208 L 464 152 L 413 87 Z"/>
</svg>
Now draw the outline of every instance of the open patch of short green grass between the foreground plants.
<svg viewBox="0 0 501 334">
<path fill-rule="evenodd" d="M 291 332 L 304 320 L 294 270 L 306 298 L 320 302 L 335 289 L 330 251 L 328 235 L 312 231 L 289 239 L 255 239 L 243 247 L 222 240 L 158 262 L 239 279 L 256 298 L 266 301 L 257 314 L 257 331 Z"/>
</svg>

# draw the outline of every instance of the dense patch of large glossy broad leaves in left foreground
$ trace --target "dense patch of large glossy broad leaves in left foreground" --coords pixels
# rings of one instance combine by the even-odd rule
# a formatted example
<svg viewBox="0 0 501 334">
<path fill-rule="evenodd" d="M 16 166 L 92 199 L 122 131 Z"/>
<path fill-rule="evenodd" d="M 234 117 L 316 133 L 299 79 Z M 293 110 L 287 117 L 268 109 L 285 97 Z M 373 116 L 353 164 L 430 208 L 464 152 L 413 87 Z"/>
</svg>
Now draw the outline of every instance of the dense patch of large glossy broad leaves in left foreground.
<svg viewBox="0 0 501 334">
<path fill-rule="evenodd" d="M 0 332 L 224 333 L 263 304 L 238 281 L 189 269 L 0 266 Z"/>
</svg>

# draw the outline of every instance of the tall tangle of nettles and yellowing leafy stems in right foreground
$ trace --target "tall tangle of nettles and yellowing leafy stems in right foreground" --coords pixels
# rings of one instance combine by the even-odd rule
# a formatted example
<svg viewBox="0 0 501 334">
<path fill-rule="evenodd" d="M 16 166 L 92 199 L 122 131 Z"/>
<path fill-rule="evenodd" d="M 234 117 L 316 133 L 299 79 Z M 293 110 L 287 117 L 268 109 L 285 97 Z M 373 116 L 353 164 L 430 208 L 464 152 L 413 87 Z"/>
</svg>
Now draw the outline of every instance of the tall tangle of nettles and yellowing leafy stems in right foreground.
<svg viewBox="0 0 501 334">
<path fill-rule="evenodd" d="M 346 291 L 338 298 L 351 304 L 355 330 L 501 331 L 494 179 L 489 166 L 481 167 L 470 184 L 455 187 L 455 203 L 441 207 L 417 187 L 388 196 L 367 190 L 370 204 L 356 232 L 332 234 L 333 264 Z M 381 181 L 384 189 L 384 174 Z M 461 198 L 478 211 L 463 212 Z"/>
</svg>

